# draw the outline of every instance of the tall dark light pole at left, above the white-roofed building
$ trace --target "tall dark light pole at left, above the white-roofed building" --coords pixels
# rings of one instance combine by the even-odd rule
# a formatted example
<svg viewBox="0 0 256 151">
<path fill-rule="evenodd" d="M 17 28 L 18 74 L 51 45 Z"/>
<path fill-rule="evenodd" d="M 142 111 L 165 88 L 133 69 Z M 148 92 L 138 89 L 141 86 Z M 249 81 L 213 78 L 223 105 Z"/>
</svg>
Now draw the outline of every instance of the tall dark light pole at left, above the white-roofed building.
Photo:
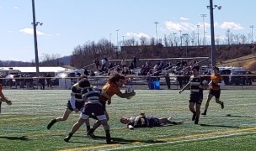
<svg viewBox="0 0 256 151">
<path fill-rule="evenodd" d="M 35 43 L 35 70 L 36 76 L 39 76 L 39 60 L 38 60 L 38 48 L 37 48 L 37 35 L 36 35 L 36 26 L 38 24 L 43 25 L 43 23 L 35 22 L 35 0 L 32 0 L 32 13 L 33 13 L 33 27 L 34 27 L 34 43 Z"/>
</svg>

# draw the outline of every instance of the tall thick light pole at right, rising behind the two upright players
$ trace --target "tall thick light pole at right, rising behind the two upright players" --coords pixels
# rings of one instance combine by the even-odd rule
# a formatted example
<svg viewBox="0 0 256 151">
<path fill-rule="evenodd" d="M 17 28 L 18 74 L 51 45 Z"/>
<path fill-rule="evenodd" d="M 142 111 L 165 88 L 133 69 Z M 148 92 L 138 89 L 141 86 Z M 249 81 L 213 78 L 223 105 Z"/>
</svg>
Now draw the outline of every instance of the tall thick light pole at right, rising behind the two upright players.
<svg viewBox="0 0 256 151">
<path fill-rule="evenodd" d="M 218 8 L 221 9 L 221 6 L 212 4 L 212 0 L 210 0 L 210 6 L 207 6 L 210 9 L 210 16 L 211 16 L 211 65 L 216 65 L 216 47 L 215 47 L 215 35 L 214 35 L 214 20 L 213 20 L 213 9 Z"/>
</svg>

